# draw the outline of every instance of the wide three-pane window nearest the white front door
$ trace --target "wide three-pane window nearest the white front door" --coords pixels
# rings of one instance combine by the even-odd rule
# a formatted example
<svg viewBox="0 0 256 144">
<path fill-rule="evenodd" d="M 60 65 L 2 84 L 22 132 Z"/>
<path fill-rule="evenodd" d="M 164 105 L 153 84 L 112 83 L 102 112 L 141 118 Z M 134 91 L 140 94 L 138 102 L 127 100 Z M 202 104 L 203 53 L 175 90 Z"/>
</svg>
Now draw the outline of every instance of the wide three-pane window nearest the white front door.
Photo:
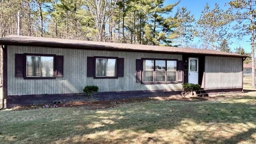
<svg viewBox="0 0 256 144">
<path fill-rule="evenodd" d="M 177 60 L 143 60 L 142 82 L 176 82 Z"/>
</svg>

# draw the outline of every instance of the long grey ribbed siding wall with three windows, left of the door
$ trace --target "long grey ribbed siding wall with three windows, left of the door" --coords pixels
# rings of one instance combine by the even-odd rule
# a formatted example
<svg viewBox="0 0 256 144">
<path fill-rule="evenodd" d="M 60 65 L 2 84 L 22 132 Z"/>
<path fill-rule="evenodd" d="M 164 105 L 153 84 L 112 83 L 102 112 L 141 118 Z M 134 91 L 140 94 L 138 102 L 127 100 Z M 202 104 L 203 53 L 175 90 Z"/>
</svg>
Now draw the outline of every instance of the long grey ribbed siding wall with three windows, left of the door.
<svg viewBox="0 0 256 144">
<path fill-rule="evenodd" d="M 181 84 L 136 83 L 136 59 L 168 58 L 182 60 L 180 54 L 155 54 L 118 51 L 78 50 L 34 46 L 8 46 L 8 96 L 30 94 L 81 93 L 86 85 L 96 85 L 99 92 L 167 90 L 178 91 Z M 15 54 L 56 54 L 64 56 L 64 77 L 48 80 L 24 80 L 14 77 Z M 87 77 L 87 56 L 113 56 L 124 58 L 124 77 L 118 79 L 93 79 Z"/>
</svg>

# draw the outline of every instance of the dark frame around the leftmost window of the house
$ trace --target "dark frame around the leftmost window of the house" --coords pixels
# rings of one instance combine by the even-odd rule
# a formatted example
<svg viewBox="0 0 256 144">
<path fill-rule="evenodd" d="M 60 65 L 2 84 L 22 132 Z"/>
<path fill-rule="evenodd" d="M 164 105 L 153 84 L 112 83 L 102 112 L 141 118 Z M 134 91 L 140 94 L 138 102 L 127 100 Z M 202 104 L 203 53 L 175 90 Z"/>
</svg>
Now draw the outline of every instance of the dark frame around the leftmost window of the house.
<svg viewBox="0 0 256 144">
<path fill-rule="evenodd" d="M 41 69 L 41 56 L 51 56 L 53 57 L 53 77 L 41 77 L 41 76 L 27 76 L 27 56 L 39 56 L 40 57 L 40 69 Z M 56 54 L 29 54 L 24 53 L 24 79 L 56 79 Z"/>
</svg>

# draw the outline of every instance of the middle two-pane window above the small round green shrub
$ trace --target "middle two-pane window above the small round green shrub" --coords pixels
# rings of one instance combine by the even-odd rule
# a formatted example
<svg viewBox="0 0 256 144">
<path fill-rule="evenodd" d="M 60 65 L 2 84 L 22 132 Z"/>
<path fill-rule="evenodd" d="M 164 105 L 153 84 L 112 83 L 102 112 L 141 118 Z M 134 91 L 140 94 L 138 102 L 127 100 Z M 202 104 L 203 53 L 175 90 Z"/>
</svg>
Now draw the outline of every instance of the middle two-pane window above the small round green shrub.
<svg viewBox="0 0 256 144">
<path fill-rule="evenodd" d="M 116 58 L 96 58 L 96 77 L 116 77 Z"/>
</svg>

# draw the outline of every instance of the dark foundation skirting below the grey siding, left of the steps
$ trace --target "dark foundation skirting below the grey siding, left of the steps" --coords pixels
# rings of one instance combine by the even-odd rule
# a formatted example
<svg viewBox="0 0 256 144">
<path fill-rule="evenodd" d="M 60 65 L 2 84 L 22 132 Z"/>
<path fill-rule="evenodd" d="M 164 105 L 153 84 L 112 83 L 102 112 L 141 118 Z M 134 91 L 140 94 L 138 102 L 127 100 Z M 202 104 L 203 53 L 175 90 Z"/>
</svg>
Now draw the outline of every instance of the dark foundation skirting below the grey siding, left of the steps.
<svg viewBox="0 0 256 144">
<path fill-rule="evenodd" d="M 148 97 L 166 97 L 180 95 L 180 91 L 129 91 L 129 92 L 99 92 L 95 94 L 94 100 L 118 100 L 127 98 L 148 98 Z M 12 108 L 14 106 L 26 105 L 40 105 L 40 104 L 54 104 L 65 102 L 79 102 L 87 101 L 88 98 L 83 93 L 77 94 L 34 94 L 34 95 L 20 95 L 8 96 L 6 99 L 6 107 Z"/>
</svg>

